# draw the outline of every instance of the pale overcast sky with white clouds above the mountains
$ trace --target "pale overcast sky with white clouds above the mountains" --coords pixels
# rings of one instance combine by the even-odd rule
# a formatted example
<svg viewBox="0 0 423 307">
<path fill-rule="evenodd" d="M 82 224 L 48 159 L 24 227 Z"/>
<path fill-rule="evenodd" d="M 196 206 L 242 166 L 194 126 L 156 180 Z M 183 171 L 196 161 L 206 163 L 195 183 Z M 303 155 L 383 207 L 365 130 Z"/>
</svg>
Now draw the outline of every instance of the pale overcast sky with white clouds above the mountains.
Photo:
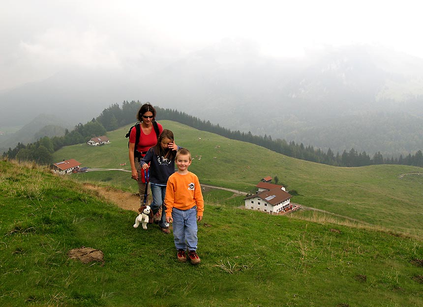
<svg viewBox="0 0 423 307">
<path fill-rule="evenodd" d="M 67 67 L 178 58 L 224 38 L 269 56 L 370 43 L 423 57 L 409 0 L 0 0 L 0 90 Z"/>
</svg>

